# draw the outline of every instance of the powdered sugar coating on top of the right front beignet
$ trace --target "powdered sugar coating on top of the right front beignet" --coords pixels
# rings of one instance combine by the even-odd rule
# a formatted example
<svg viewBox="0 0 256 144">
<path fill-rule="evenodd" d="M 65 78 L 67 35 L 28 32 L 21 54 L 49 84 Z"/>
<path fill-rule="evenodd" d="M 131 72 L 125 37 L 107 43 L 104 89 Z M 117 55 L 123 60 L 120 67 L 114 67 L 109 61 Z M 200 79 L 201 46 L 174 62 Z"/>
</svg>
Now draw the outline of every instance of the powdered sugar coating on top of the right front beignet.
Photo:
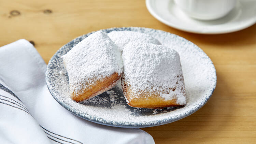
<svg viewBox="0 0 256 144">
<path fill-rule="evenodd" d="M 123 80 L 130 85 L 131 99 L 141 98 L 144 92 L 156 92 L 165 100 L 186 103 L 180 56 L 176 51 L 162 45 L 129 43 L 122 58 Z"/>
</svg>

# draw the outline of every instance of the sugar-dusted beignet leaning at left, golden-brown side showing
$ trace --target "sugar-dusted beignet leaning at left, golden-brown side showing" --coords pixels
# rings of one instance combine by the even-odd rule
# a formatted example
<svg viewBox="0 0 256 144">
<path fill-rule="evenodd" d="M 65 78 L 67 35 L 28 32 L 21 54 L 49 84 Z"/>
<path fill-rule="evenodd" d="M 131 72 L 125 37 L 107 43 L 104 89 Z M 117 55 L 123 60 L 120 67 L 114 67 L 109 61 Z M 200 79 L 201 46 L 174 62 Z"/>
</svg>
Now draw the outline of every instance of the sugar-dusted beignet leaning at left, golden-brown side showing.
<svg viewBox="0 0 256 144">
<path fill-rule="evenodd" d="M 61 58 L 68 72 L 71 98 L 76 102 L 111 89 L 122 75 L 121 52 L 102 31 L 90 34 Z"/>
</svg>

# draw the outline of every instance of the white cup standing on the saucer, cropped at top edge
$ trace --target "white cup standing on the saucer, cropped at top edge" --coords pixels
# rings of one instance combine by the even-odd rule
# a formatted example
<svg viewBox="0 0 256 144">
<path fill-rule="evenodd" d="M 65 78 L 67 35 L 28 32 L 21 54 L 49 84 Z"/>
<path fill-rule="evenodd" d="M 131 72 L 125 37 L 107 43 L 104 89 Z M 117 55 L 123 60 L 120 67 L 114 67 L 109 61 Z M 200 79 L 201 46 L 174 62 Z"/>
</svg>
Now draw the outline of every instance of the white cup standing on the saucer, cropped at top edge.
<svg viewBox="0 0 256 144">
<path fill-rule="evenodd" d="M 227 15 L 237 0 L 174 0 L 188 16 L 200 20 L 213 20 Z"/>
</svg>

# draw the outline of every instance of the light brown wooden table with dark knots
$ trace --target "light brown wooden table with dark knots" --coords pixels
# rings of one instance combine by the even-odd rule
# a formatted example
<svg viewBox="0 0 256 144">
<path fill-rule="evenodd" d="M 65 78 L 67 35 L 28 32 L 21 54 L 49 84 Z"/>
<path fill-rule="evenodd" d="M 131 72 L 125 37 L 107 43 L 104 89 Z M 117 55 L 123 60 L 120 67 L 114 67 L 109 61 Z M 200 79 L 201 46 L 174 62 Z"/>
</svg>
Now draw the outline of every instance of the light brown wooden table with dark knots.
<svg viewBox="0 0 256 144">
<path fill-rule="evenodd" d="M 0 21 L 0 46 L 33 41 L 46 63 L 62 45 L 99 29 L 136 26 L 180 35 L 212 59 L 216 89 L 196 113 L 142 129 L 156 144 L 256 143 L 256 25 L 229 34 L 187 33 L 156 20 L 144 0 L 0 0 Z"/>
</svg>

